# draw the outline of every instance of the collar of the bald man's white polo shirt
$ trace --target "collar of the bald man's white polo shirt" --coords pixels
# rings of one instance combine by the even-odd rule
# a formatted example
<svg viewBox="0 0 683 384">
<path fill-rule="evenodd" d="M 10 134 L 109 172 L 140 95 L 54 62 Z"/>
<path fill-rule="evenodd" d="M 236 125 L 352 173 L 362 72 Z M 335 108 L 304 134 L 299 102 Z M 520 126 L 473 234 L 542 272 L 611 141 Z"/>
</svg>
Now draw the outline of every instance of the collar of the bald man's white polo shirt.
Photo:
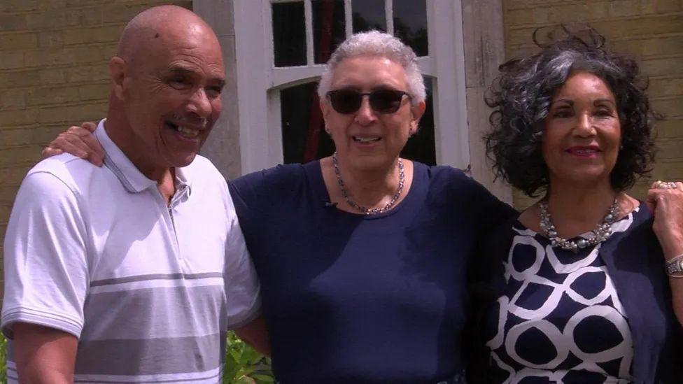
<svg viewBox="0 0 683 384">
<path fill-rule="evenodd" d="M 157 182 L 143 175 L 135 164 L 126 157 L 123 151 L 111 141 L 111 138 L 109 138 L 104 130 L 105 120 L 100 120 L 97 129 L 94 131 L 95 138 L 97 138 L 97 141 L 99 141 L 104 149 L 104 165 L 111 169 L 128 192 L 137 193 L 149 187 L 156 187 Z M 176 189 L 184 190 L 185 187 L 188 187 L 188 192 L 190 192 L 192 184 L 190 183 L 190 176 L 191 172 L 188 167 L 176 168 Z"/>
</svg>

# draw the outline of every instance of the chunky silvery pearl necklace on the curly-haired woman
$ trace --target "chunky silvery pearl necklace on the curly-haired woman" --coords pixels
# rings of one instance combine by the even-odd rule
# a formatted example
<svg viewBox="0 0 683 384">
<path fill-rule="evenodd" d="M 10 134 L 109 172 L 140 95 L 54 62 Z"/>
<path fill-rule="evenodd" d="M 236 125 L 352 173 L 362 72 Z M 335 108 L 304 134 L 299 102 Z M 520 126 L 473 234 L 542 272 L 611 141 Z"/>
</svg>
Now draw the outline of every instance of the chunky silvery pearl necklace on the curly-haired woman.
<svg viewBox="0 0 683 384">
<path fill-rule="evenodd" d="M 598 243 L 602 243 L 607 240 L 610 235 L 612 235 L 612 223 L 617 220 L 619 212 L 619 199 L 614 198 L 614 203 L 607 210 L 607 215 L 603 218 L 603 222 L 596 226 L 588 234 L 588 239 L 578 239 L 577 241 L 563 239 L 557 235 L 557 230 L 553 225 L 550 218 L 550 213 L 548 212 L 547 201 L 541 201 L 538 204 L 541 210 L 541 229 L 545 232 L 546 236 L 550 240 L 551 247 L 560 247 L 563 250 L 571 250 L 574 253 L 579 252 L 579 249 L 586 248 L 588 246 L 595 246 Z"/>
</svg>

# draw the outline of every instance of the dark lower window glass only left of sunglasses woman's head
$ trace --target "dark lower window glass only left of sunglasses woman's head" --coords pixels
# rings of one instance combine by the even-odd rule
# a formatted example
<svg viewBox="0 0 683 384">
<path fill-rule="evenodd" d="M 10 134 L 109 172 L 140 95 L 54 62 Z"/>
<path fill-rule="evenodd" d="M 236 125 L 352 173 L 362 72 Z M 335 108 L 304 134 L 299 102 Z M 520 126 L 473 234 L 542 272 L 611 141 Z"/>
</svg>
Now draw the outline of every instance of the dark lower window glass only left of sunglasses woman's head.
<svg viewBox="0 0 683 384">
<path fill-rule="evenodd" d="M 335 145 L 324 129 L 317 85 L 307 83 L 280 91 L 285 164 L 310 162 L 335 151 Z"/>
</svg>

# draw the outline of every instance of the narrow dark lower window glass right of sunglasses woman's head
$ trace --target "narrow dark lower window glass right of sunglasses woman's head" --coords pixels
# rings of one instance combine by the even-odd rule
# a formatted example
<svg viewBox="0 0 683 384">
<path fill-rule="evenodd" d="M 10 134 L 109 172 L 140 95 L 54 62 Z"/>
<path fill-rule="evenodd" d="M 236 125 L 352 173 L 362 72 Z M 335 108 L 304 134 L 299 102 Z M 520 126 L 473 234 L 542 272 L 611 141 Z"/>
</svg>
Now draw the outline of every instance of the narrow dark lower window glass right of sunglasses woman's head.
<svg viewBox="0 0 683 384">
<path fill-rule="evenodd" d="M 408 139 L 408 143 L 401 152 L 406 159 L 415 160 L 428 165 L 437 164 L 436 146 L 434 141 L 434 107 L 432 105 L 432 79 L 425 77 L 427 99 L 425 114 L 420 120 L 417 134 Z"/>
</svg>

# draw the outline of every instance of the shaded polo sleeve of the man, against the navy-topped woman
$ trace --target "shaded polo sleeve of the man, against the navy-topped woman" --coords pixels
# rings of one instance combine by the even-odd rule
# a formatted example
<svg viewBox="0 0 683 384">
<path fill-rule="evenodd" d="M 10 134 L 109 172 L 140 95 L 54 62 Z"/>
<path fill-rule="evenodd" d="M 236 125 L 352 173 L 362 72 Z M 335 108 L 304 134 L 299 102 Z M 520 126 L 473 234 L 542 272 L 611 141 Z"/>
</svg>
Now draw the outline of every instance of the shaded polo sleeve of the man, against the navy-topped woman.
<svg viewBox="0 0 683 384">
<path fill-rule="evenodd" d="M 228 211 L 230 227 L 225 244 L 225 295 L 228 328 L 235 329 L 260 315 L 260 283 L 232 204 Z"/>
</svg>

